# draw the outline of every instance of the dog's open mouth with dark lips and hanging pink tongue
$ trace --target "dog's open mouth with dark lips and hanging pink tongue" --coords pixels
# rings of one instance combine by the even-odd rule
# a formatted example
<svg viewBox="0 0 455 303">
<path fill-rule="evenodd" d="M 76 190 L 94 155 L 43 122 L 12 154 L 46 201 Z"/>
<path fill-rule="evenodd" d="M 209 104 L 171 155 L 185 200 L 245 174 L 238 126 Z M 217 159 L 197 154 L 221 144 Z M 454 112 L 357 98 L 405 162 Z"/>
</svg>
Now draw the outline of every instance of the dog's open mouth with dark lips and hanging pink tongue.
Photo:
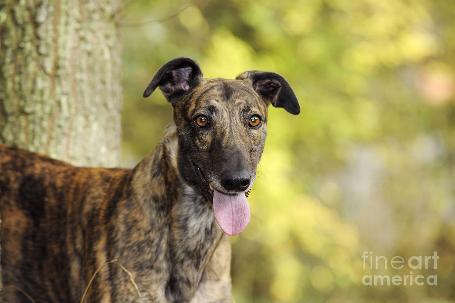
<svg viewBox="0 0 455 303">
<path fill-rule="evenodd" d="M 223 193 L 207 181 L 199 166 L 195 163 L 193 165 L 205 195 L 212 202 L 213 214 L 221 230 L 230 236 L 244 231 L 251 218 L 246 199 L 250 191 Z"/>
</svg>

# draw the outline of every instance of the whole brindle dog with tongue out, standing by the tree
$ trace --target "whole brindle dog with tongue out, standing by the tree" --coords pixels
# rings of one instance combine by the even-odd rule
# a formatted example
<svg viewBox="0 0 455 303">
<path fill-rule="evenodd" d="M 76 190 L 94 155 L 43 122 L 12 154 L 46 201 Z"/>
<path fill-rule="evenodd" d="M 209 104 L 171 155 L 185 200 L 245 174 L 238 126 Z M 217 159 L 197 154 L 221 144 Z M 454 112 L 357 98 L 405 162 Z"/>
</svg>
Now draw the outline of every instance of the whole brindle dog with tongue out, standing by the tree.
<svg viewBox="0 0 455 303">
<path fill-rule="evenodd" d="M 183 57 L 158 70 L 144 97 L 157 87 L 173 121 L 131 170 L 0 146 L 5 302 L 29 303 L 24 293 L 37 303 L 231 300 L 228 235 L 250 220 L 267 110 L 296 115 L 297 97 L 276 73 L 205 79 Z"/>
</svg>

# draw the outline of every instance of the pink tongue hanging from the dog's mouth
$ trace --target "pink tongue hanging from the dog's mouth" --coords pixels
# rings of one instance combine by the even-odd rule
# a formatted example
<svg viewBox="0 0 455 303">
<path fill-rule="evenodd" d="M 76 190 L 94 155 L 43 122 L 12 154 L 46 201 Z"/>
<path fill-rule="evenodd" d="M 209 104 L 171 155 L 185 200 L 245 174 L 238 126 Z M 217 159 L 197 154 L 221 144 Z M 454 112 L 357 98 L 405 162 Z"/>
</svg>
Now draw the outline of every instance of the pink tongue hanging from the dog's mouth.
<svg viewBox="0 0 455 303">
<path fill-rule="evenodd" d="M 250 206 L 243 192 L 236 195 L 213 191 L 213 212 L 224 233 L 234 236 L 241 233 L 250 222 Z"/>
</svg>

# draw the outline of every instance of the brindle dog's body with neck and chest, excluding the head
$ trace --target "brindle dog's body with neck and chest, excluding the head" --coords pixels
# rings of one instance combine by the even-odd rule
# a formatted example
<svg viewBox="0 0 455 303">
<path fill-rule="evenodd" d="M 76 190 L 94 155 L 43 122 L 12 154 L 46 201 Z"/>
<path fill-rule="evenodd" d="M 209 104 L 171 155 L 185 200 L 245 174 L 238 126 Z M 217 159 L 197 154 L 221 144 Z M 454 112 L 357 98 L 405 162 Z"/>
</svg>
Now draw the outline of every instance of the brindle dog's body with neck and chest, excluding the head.
<svg viewBox="0 0 455 303">
<path fill-rule="evenodd" d="M 106 265 L 87 302 L 166 302 L 166 286 L 169 301 L 226 301 L 229 238 L 205 198 L 178 181 L 176 143 L 171 125 L 133 170 L 77 168 L 0 147 L 5 286 L 38 303 L 78 302 L 97 268 L 118 259 L 142 298 L 118 266 Z M 8 288 L 5 299 L 29 302 Z"/>
</svg>

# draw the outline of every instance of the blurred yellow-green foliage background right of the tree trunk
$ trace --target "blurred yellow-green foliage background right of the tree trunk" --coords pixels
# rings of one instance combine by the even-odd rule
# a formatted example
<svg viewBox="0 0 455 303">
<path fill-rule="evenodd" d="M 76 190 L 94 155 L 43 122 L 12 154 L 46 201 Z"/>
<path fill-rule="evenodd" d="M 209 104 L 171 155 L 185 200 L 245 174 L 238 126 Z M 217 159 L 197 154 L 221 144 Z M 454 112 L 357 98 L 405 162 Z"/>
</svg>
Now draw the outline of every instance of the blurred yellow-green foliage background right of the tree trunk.
<svg viewBox="0 0 455 303">
<path fill-rule="evenodd" d="M 455 5 L 444 0 L 126 2 L 123 165 L 172 119 L 142 93 L 178 56 L 204 76 L 274 71 L 301 114 L 270 107 L 233 243 L 237 302 L 455 301 Z M 437 286 L 365 286 L 373 256 L 439 256 Z M 375 258 L 375 257 L 374 257 Z M 383 263 L 381 263 L 383 264 Z"/>
</svg>

